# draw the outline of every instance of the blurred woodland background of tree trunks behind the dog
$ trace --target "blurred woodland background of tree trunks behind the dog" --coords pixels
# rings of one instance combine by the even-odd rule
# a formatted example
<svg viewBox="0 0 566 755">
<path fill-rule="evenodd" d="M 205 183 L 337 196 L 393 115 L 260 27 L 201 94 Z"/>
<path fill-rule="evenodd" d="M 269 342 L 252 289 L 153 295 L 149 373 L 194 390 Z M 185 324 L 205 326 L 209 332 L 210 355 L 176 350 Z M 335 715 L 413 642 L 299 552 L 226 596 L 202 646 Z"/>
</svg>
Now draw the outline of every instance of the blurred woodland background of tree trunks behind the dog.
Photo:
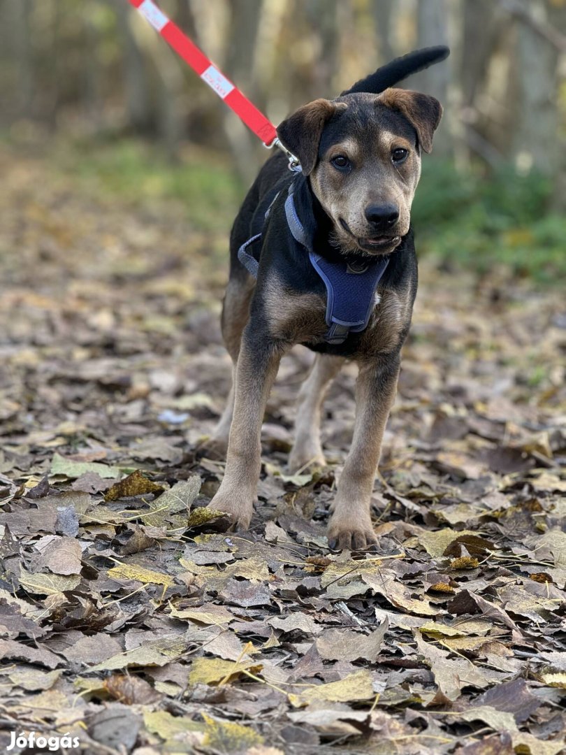
<svg viewBox="0 0 566 755">
<path fill-rule="evenodd" d="M 506 234 L 498 242 L 524 255 L 563 245 L 566 0 L 158 4 L 275 123 L 395 55 L 448 43 L 446 63 L 407 82 L 445 109 L 417 214 L 440 226 L 457 217 L 484 244 Z M 0 92 L 8 136 L 29 125 L 46 138 L 143 135 L 172 161 L 187 145 L 231 153 L 245 181 L 265 158 L 127 0 L 0 0 Z"/>
</svg>

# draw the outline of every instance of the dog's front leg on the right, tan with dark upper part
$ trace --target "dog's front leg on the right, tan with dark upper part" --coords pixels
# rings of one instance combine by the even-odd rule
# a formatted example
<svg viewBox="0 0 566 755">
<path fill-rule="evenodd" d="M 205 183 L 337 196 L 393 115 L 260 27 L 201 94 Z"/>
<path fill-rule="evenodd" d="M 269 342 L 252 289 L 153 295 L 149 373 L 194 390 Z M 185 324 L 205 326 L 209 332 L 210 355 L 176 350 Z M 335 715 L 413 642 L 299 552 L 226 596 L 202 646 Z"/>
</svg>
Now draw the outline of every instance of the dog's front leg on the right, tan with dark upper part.
<svg viewBox="0 0 566 755">
<path fill-rule="evenodd" d="M 377 542 L 371 526 L 371 492 L 380 460 L 383 430 L 389 416 L 399 374 L 398 357 L 360 365 L 356 384 L 352 448 L 328 522 L 331 548 L 358 550 Z"/>
</svg>

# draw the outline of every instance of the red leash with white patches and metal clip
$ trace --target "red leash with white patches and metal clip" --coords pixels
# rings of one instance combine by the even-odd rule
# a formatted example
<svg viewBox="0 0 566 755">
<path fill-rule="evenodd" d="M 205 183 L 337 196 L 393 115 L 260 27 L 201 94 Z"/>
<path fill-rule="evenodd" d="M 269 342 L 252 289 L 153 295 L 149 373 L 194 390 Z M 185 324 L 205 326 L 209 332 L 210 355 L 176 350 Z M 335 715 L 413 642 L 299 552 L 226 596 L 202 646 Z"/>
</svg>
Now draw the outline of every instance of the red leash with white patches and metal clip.
<svg viewBox="0 0 566 755">
<path fill-rule="evenodd" d="M 201 79 L 213 89 L 220 99 L 232 109 L 235 114 L 256 134 L 266 147 L 278 146 L 288 156 L 289 168 L 300 170 L 299 161 L 281 144 L 277 137 L 277 131 L 263 112 L 245 97 L 241 91 L 232 84 L 226 76 L 217 69 L 211 60 L 184 34 L 177 24 L 173 23 L 168 16 L 158 8 L 153 0 L 129 0 L 130 4 L 151 23 L 174 51 L 189 64 L 189 66 L 201 77 Z"/>
</svg>

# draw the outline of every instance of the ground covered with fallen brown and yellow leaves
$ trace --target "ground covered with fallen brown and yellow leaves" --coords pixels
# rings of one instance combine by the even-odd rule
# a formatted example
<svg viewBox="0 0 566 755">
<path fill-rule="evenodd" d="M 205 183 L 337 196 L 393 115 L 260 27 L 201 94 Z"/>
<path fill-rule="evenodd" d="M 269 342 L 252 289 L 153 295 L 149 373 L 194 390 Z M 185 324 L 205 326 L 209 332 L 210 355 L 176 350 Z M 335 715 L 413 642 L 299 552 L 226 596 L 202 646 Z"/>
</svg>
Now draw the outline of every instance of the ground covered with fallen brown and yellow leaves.
<svg viewBox="0 0 566 755">
<path fill-rule="evenodd" d="M 328 468 L 285 476 L 294 350 L 251 532 L 223 535 L 198 511 L 223 465 L 195 446 L 229 385 L 226 224 L 0 163 L 2 744 L 561 752 L 563 295 L 424 260 L 371 556 L 325 539 L 354 368 L 325 405 Z"/>
</svg>

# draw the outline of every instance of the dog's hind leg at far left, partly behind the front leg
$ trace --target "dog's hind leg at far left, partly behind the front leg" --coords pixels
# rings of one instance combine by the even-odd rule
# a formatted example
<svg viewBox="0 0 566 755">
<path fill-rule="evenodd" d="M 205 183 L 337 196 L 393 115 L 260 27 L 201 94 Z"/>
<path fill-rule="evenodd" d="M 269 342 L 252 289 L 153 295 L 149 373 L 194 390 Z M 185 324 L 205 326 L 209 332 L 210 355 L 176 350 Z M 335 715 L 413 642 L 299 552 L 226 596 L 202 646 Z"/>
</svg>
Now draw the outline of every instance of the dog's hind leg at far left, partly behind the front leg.
<svg viewBox="0 0 566 755">
<path fill-rule="evenodd" d="M 226 350 L 232 357 L 232 387 L 226 406 L 212 436 L 201 444 L 199 451 L 211 458 L 226 458 L 232 415 L 234 413 L 235 368 L 240 353 L 241 334 L 250 317 L 250 301 L 254 294 L 255 281 L 251 276 L 230 279 L 222 307 L 222 335 Z"/>
</svg>

